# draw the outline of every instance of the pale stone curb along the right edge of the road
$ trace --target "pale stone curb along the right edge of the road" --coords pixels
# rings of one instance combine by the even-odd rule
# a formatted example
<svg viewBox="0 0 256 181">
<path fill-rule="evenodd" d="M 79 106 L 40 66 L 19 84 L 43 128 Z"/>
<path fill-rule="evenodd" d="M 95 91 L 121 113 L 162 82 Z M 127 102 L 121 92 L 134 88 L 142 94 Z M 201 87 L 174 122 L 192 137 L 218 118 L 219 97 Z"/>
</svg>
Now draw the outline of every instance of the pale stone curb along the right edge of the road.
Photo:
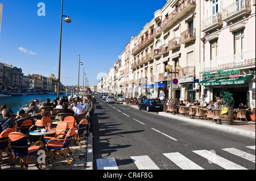
<svg viewBox="0 0 256 181">
<path fill-rule="evenodd" d="M 204 121 L 195 120 L 195 119 L 188 119 L 188 118 L 185 118 L 185 117 L 178 117 L 178 116 L 170 115 L 170 114 L 164 113 L 164 112 L 159 112 L 158 114 L 159 114 L 159 116 L 171 117 L 173 119 L 179 119 L 181 121 L 196 123 L 196 124 L 203 125 L 203 126 L 206 126 L 206 127 L 212 127 L 214 129 L 227 131 L 227 132 L 232 132 L 232 133 L 237 133 L 237 134 L 241 134 L 241 135 L 244 135 L 244 136 L 249 136 L 249 137 L 255 138 L 255 132 L 246 131 L 244 129 L 232 128 L 232 127 L 228 127 L 228 126 L 225 126 L 225 125 L 205 123 Z"/>
</svg>

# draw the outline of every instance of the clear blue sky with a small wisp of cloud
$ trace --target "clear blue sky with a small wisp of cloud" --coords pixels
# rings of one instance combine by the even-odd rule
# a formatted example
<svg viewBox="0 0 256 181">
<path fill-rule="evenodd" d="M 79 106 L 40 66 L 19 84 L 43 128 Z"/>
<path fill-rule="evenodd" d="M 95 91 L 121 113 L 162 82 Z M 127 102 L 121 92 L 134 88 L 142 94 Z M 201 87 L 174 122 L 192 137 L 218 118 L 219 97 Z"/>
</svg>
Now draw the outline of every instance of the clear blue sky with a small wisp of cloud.
<svg viewBox="0 0 256 181">
<path fill-rule="evenodd" d="M 21 68 L 25 75 L 38 73 L 58 77 L 61 0 L 0 0 L 3 4 L 0 62 Z M 38 3 L 46 15 L 38 16 Z M 89 85 L 99 73 L 108 73 L 132 36 L 138 35 L 166 0 L 64 0 L 61 76 L 64 85 L 80 86 L 85 71 Z"/>
</svg>

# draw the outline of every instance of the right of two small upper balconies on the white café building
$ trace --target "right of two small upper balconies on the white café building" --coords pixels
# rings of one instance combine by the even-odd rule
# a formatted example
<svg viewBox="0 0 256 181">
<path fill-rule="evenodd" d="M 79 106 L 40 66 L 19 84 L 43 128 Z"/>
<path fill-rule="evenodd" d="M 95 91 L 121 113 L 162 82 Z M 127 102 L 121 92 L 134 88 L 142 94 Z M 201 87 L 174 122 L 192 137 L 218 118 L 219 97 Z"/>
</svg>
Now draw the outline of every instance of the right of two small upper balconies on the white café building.
<svg viewBox="0 0 256 181">
<path fill-rule="evenodd" d="M 223 9 L 222 19 L 225 22 L 232 22 L 242 16 L 249 14 L 251 11 L 250 0 L 239 0 Z"/>
</svg>

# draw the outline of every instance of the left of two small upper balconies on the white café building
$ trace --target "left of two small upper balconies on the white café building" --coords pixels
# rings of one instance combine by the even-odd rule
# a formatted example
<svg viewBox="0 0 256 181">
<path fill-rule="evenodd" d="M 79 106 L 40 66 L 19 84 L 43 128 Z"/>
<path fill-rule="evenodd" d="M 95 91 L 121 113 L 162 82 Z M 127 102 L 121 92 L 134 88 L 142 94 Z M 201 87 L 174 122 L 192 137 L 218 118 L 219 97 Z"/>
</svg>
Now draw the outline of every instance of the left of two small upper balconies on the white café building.
<svg viewBox="0 0 256 181">
<path fill-rule="evenodd" d="M 212 30 L 216 30 L 221 27 L 222 24 L 222 14 L 220 12 L 217 12 L 216 14 L 202 21 L 202 31 L 209 32 Z"/>
</svg>

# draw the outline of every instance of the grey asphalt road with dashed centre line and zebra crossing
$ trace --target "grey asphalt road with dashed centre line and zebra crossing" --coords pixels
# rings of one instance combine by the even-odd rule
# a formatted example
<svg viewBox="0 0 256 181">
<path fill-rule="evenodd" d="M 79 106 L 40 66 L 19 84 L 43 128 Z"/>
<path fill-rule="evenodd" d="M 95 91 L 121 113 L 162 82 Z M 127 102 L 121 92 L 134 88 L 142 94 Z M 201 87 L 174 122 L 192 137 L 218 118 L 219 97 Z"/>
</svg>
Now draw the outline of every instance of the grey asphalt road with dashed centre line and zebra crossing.
<svg viewBox="0 0 256 181">
<path fill-rule="evenodd" d="M 254 138 L 96 99 L 94 169 L 255 170 Z"/>
</svg>

